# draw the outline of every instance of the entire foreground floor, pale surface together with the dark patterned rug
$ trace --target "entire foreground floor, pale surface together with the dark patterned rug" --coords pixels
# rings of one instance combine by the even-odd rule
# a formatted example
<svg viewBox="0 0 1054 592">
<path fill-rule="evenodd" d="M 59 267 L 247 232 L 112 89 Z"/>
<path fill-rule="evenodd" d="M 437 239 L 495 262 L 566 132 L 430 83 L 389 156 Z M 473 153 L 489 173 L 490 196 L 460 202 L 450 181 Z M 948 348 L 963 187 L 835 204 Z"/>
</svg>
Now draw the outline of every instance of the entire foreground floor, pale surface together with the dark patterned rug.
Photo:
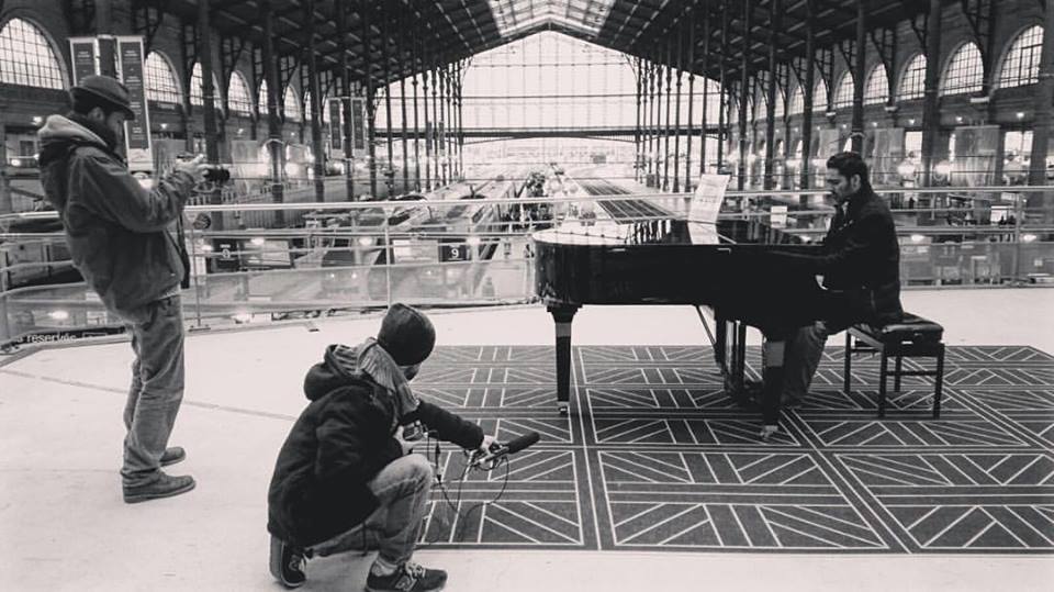
<svg viewBox="0 0 1054 592">
<path fill-rule="evenodd" d="M 418 558 L 448 569 L 452 591 L 1046 590 L 1052 295 L 906 293 L 953 346 L 943 418 L 926 418 L 924 388 L 910 384 L 902 409 L 875 421 L 866 388 L 832 387 L 832 361 L 769 445 L 718 392 L 691 309 L 583 309 L 575 343 L 595 347 L 576 350 L 570 417 L 550 404 L 543 310 L 437 312 L 440 344 L 467 347 L 441 349 L 418 390 L 501 437 L 543 439 L 515 458 L 507 484 L 504 471 L 473 473 L 458 522 L 437 503 Z M 116 474 L 127 344 L 0 366 L 4 589 L 278 590 L 265 492 L 305 404 L 303 372 L 377 320 L 315 325 L 190 337 L 173 434 L 189 458 L 173 472 L 199 488 L 136 506 L 121 502 Z M 873 380 L 855 367 L 860 383 Z M 502 487 L 498 504 L 468 512 Z M 306 589 L 359 589 L 368 562 L 314 560 Z"/>
</svg>

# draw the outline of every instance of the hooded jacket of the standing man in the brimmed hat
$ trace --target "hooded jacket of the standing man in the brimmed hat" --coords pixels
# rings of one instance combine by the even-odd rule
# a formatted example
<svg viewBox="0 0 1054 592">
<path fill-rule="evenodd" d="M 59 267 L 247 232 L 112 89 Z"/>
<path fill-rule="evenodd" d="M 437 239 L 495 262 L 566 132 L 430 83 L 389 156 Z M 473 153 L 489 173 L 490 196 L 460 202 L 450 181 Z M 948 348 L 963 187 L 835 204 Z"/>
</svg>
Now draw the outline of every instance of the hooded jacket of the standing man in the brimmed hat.
<svg viewBox="0 0 1054 592">
<path fill-rule="evenodd" d="M 47 118 L 38 134 L 41 180 L 63 221 L 74 266 L 109 310 L 134 320 L 187 272 L 186 250 L 170 226 L 182 215 L 194 179 L 176 171 L 144 189 L 114 153 L 115 138 L 103 139 L 108 130 L 91 125 L 72 115 Z"/>
</svg>

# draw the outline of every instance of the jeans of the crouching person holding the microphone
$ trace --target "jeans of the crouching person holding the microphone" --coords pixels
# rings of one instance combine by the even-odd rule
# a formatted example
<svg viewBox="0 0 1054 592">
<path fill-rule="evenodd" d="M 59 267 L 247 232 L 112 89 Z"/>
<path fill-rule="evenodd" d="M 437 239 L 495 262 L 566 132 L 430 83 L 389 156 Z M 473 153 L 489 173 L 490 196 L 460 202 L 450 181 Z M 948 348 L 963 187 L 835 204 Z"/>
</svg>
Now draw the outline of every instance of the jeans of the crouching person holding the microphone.
<svg viewBox="0 0 1054 592">
<path fill-rule="evenodd" d="M 312 551 L 325 557 L 378 549 L 388 563 L 408 561 L 421 536 L 431 474 L 431 465 L 424 455 L 411 454 L 388 463 L 369 482 L 381 505 L 362 524 L 315 545 Z"/>
</svg>

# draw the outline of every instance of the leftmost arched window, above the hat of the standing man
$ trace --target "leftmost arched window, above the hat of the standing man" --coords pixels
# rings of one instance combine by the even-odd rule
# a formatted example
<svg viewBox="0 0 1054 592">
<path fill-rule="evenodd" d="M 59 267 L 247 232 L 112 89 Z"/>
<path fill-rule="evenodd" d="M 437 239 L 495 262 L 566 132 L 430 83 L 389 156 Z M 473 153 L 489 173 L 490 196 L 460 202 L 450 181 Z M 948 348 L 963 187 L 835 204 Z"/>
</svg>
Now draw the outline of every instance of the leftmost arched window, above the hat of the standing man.
<svg viewBox="0 0 1054 592">
<path fill-rule="evenodd" d="M 0 82 L 66 88 L 63 65 L 55 49 L 33 23 L 11 19 L 0 30 Z"/>
</svg>

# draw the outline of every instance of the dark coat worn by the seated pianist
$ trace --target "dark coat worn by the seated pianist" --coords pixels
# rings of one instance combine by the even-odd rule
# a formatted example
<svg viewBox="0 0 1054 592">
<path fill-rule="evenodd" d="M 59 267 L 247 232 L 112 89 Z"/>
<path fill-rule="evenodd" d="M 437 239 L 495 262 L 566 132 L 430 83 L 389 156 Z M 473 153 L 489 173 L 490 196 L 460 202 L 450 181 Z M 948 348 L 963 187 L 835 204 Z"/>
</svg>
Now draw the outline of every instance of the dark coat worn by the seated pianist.
<svg viewBox="0 0 1054 592">
<path fill-rule="evenodd" d="M 886 202 L 870 188 L 839 209 L 823 238 L 821 254 L 794 256 L 823 276 L 830 301 L 823 311 L 833 331 L 859 322 L 899 322 L 900 246 Z"/>
</svg>

